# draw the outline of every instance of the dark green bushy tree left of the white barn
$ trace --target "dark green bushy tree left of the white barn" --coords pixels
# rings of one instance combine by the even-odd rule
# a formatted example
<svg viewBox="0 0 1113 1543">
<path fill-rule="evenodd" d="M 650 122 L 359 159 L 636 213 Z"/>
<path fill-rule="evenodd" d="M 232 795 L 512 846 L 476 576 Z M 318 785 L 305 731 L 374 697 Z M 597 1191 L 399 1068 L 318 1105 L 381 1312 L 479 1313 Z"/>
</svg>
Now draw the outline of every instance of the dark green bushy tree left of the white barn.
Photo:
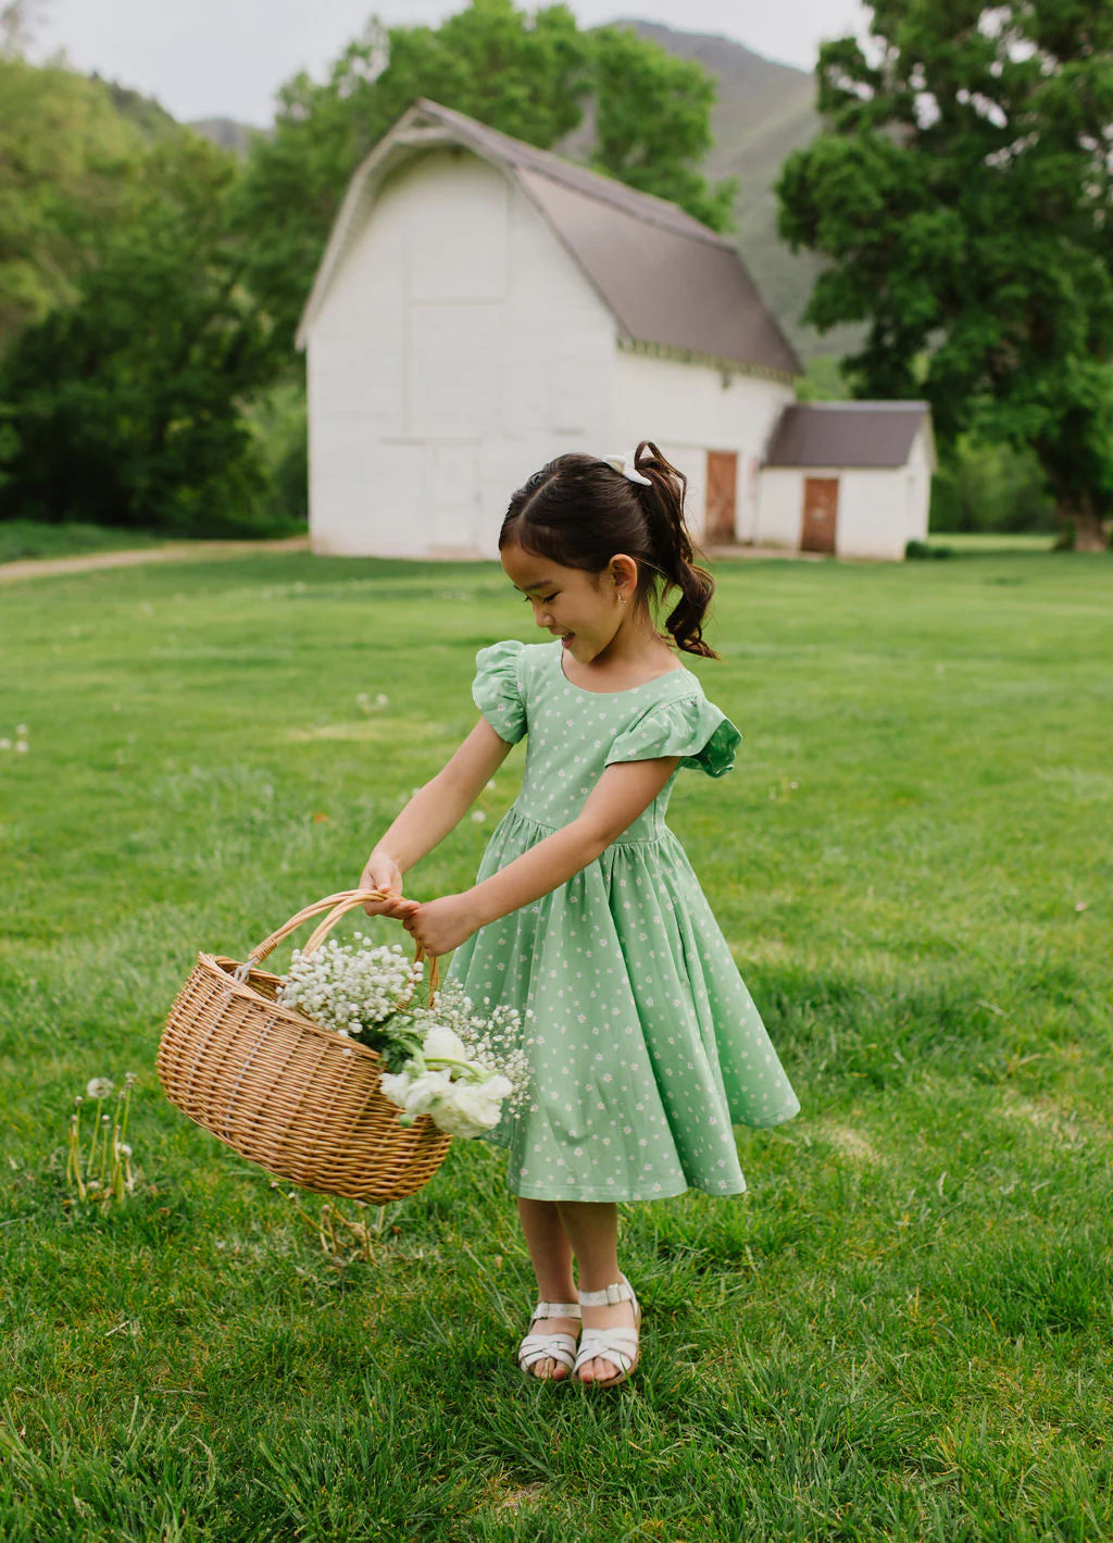
<svg viewBox="0 0 1113 1543">
<path fill-rule="evenodd" d="M 250 526 L 262 472 L 247 401 L 276 375 L 230 239 L 231 156 L 159 142 L 128 207 L 0 363 L 0 515 L 213 532 Z"/>
</svg>

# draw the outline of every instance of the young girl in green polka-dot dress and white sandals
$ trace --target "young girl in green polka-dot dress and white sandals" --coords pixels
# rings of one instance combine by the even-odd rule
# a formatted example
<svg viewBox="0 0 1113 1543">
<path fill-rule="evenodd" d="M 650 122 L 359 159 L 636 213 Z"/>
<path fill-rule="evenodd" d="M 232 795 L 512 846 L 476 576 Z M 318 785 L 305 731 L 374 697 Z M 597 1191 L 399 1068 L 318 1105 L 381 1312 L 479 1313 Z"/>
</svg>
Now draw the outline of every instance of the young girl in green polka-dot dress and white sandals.
<svg viewBox="0 0 1113 1543">
<path fill-rule="evenodd" d="M 479 651 L 483 717 L 361 880 L 388 895 L 370 913 L 401 918 L 430 955 L 456 950 L 449 974 L 473 1001 L 523 1015 L 530 1102 L 492 1131 L 509 1148 L 541 1298 L 518 1359 L 597 1387 L 626 1381 L 638 1359 L 617 1202 L 740 1194 L 732 1123 L 778 1125 L 800 1108 L 664 824 L 678 768 L 723 776 L 741 738 L 675 653 L 715 657 L 701 636 L 712 580 L 692 566 L 684 491 L 647 441 L 612 461 L 560 455 L 518 489 L 503 568 L 553 642 Z M 669 591 L 664 637 L 655 611 Z M 407 869 L 526 734 L 521 793 L 476 884 L 402 898 Z"/>
</svg>

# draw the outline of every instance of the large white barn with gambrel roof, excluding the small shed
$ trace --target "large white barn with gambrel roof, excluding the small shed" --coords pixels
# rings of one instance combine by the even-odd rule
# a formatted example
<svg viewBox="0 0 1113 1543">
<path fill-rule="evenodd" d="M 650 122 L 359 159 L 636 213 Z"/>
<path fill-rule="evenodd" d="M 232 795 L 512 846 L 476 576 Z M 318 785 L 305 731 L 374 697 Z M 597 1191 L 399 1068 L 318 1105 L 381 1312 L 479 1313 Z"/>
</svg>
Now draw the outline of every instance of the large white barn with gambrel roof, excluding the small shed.
<svg viewBox="0 0 1113 1543">
<path fill-rule="evenodd" d="M 729 241 L 427 100 L 353 176 L 298 341 L 313 549 L 348 555 L 493 555 L 538 466 L 641 438 L 704 542 L 752 542 L 800 373 Z"/>
</svg>

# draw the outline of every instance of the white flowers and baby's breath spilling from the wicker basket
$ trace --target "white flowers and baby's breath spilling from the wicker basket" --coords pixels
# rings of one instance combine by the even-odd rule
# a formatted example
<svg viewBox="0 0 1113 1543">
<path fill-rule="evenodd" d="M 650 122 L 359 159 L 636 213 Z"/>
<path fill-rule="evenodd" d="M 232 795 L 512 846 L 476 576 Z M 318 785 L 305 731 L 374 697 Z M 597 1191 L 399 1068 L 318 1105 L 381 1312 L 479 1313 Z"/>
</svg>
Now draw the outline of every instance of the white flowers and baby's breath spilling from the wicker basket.
<svg viewBox="0 0 1113 1543">
<path fill-rule="evenodd" d="M 492 1129 L 504 1105 L 518 1108 L 527 1091 L 518 1014 L 513 1008 L 478 1014 L 453 983 L 438 994 L 436 1006 L 412 1006 L 422 966 L 398 944 L 364 944 L 356 932 L 351 943 L 330 938 L 310 955 L 296 949 L 279 1001 L 379 1052 L 382 1092 L 402 1111 L 399 1123 L 427 1114 L 452 1136 Z"/>
</svg>

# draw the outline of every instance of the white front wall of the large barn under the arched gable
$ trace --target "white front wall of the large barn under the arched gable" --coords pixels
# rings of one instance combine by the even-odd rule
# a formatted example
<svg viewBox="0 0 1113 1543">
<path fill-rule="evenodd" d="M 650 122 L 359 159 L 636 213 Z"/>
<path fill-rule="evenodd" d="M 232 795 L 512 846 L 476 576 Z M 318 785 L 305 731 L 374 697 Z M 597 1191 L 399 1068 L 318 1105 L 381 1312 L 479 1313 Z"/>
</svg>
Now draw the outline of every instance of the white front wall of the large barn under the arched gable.
<svg viewBox="0 0 1113 1543">
<path fill-rule="evenodd" d="M 493 555 L 506 500 L 610 418 L 614 319 L 466 151 L 381 190 L 308 339 L 318 552 Z"/>
</svg>

